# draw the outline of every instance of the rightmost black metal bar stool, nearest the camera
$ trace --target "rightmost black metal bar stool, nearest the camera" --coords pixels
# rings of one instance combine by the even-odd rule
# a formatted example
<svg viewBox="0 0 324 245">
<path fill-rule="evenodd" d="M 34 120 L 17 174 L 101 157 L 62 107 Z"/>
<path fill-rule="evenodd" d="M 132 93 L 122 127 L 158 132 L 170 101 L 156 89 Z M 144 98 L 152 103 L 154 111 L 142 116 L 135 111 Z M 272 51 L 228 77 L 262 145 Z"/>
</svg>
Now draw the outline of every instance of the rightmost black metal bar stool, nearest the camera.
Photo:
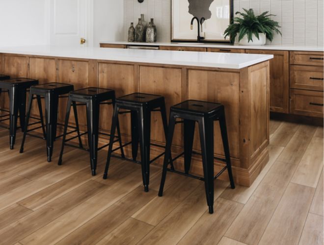
<svg viewBox="0 0 324 245">
<path fill-rule="evenodd" d="M 181 118 L 183 119 L 183 121 L 176 122 L 177 118 Z M 214 157 L 214 121 L 219 121 L 225 159 Z M 189 174 L 192 153 L 200 154 L 198 152 L 192 151 L 195 122 L 197 122 L 199 126 L 199 137 L 204 172 L 203 178 Z M 168 164 L 170 163 L 168 159 L 171 153 L 171 144 L 176 123 L 184 123 L 185 146 L 184 152 L 179 155 L 184 155 L 184 173 L 168 169 Z M 176 158 L 178 158 L 179 156 L 177 156 Z M 216 176 L 214 176 L 215 158 L 226 163 L 226 166 L 219 173 L 217 173 Z M 207 204 L 209 206 L 209 213 L 212 214 L 214 212 L 214 179 L 216 179 L 226 169 L 228 171 L 231 188 L 234 189 L 235 184 L 231 167 L 224 106 L 219 103 L 204 102 L 198 100 L 187 100 L 180 104 L 172 106 L 170 111 L 169 131 L 167 134 L 159 196 L 163 195 L 163 187 L 167 171 L 176 172 L 189 177 L 194 177 L 203 180 L 205 182 L 206 198 Z"/>
</svg>

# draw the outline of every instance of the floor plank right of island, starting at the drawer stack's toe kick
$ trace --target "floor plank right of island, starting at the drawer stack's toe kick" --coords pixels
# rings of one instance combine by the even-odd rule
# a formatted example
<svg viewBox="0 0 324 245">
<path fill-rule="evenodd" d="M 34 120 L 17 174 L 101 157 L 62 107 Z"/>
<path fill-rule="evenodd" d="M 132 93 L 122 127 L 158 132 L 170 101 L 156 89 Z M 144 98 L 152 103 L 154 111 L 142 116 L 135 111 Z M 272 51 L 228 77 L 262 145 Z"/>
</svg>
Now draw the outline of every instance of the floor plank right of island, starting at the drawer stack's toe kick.
<svg viewBox="0 0 324 245">
<path fill-rule="evenodd" d="M 293 138 L 281 152 L 278 160 L 284 163 L 298 165 L 315 131 L 316 126 L 300 125 Z"/>
</svg>

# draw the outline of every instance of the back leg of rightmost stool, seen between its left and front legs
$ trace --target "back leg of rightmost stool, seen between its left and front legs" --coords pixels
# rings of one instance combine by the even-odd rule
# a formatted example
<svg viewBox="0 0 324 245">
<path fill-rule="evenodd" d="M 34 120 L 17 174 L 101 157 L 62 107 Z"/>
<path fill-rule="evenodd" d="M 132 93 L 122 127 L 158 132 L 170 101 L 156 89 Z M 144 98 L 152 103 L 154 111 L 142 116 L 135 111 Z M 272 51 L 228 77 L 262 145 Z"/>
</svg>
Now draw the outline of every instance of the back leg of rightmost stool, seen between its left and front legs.
<svg viewBox="0 0 324 245">
<path fill-rule="evenodd" d="M 184 120 L 185 172 L 188 174 L 191 165 L 192 145 L 195 121 Z"/>
</svg>

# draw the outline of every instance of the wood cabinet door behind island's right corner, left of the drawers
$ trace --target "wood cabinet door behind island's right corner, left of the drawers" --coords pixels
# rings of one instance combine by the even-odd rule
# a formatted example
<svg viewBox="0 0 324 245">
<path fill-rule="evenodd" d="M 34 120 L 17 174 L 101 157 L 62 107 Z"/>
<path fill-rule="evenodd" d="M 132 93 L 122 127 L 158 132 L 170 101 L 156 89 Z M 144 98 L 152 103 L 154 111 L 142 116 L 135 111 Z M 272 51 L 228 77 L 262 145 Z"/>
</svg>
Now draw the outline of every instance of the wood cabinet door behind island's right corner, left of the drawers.
<svg viewBox="0 0 324 245">
<path fill-rule="evenodd" d="M 289 51 L 246 49 L 245 52 L 273 54 L 270 60 L 270 111 L 289 113 Z"/>
</svg>

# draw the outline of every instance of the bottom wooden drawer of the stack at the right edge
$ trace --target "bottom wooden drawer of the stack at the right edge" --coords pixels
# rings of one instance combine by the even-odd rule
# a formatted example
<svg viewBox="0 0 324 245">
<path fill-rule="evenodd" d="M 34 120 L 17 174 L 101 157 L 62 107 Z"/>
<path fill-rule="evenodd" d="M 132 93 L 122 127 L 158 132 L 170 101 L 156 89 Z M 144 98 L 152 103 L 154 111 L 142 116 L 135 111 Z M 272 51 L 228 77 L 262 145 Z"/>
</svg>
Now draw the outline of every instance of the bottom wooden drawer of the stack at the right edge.
<svg viewBox="0 0 324 245">
<path fill-rule="evenodd" d="M 291 89 L 290 113 L 323 118 L 323 92 Z"/>
</svg>

